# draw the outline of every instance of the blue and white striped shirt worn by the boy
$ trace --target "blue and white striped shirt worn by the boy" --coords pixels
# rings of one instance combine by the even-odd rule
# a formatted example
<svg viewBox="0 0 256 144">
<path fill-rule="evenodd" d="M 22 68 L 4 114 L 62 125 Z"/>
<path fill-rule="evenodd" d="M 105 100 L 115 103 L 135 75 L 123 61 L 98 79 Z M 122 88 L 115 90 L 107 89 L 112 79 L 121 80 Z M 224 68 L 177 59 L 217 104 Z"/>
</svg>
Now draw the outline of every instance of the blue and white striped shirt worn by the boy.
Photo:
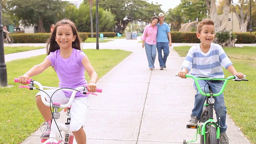
<svg viewBox="0 0 256 144">
<path fill-rule="evenodd" d="M 222 67 L 233 65 L 222 46 L 211 43 L 207 53 L 202 52 L 200 44 L 192 46 L 188 51 L 182 68 L 187 68 L 191 75 L 204 78 L 224 78 Z"/>
</svg>

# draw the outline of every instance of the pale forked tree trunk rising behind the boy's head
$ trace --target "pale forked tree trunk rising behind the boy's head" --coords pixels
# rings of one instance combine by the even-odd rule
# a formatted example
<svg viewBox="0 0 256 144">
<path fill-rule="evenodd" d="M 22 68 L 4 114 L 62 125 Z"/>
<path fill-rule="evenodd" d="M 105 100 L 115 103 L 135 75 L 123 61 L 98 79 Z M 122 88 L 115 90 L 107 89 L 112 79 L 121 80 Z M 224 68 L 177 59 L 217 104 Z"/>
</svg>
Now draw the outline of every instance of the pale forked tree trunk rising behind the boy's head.
<svg viewBox="0 0 256 144">
<path fill-rule="evenodd" d="M 228 14 L 230 12 L 231 0 L 224 0 L 222 18 L 218 18 L 215 0 L 205 0 L 207 9 L 210 11 L 210 17 L 214 21 L 216 32 L 224 32 L 228 24 Z"/>
</svg>

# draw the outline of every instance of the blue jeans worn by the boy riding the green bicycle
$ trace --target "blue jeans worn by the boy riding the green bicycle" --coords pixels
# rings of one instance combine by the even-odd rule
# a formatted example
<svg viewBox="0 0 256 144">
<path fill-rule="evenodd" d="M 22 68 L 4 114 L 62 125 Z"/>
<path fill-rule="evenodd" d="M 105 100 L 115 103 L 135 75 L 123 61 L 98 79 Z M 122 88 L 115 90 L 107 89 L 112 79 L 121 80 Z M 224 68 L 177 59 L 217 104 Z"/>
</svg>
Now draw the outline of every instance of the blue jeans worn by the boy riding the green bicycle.
<svg viewBox="0 0 256 144">
<path fill-rule="evenodd" d="M 198 80 L 198 83 L 202 89 L 203 92 L 209 93 L 209 89 L 212 91 L 212 93 L 216 94 L 220 92 L 220 89 L 223 86 L 222 81 L 210 81 L 207 82 L 206 80 Z M 206 84 L 205 90 L 204 86 Z M 191 116 L 196 116 L 198 119 L 200 119 L 201 114 L 202 114 L 202 108 L 204 106 L 204 102 L 206 100 L 206 96 L 203 96 L 200 94 L 198 89 L 196 88 L 196 84 L 193 82 L 194 88 L 197 90 L 196 95 L 195 95 L 195 103 L 194 103 L 194 108 L 192 110 Z M 227 129 L 226 125 L 226 114 L 227 114 L 227 107 L 225 106 L 224 102 L 224 95 L 223 93 L 220 94 L 220 96 L 214 96 L 214 108 L 216 110 L 216 117 L 217 119 L 220 117 L 220 133 L 225 132 Z"/>
</svg>

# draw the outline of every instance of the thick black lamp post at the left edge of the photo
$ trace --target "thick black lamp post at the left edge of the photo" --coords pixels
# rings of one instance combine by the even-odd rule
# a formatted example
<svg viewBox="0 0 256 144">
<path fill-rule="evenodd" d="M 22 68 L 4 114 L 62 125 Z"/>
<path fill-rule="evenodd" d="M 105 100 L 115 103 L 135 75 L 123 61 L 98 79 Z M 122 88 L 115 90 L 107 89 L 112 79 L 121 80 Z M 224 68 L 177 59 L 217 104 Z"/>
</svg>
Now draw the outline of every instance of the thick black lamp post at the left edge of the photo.
<svg viewBox="0 0 256 144">
<path fill-rule="evenodd" d="M 4 40 L 1 1 L 2 0 L 0 0 L 0 86 L 7 86 L 7 70 L 4 61 Z"/>
</svg>

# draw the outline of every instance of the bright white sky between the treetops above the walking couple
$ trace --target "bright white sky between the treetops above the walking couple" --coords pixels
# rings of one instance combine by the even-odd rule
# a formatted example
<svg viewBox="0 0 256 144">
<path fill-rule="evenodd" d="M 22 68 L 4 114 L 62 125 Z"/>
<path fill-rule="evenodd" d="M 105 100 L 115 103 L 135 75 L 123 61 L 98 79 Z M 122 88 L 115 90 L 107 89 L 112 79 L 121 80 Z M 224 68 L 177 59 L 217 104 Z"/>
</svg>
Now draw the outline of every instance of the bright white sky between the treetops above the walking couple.
<svg viewBox="0 0 256 144">
<path fill-rule="evenodd" d="M 147 1 L 149 3 L 153 2 L 154 4 L 156 4 L 156 2 L 158 2 L 158 4 L 162 4 L 161 9 L 164 12 L 167 12 L 169 8 L 173 9 L 180 4 L 180 0 L 147 0 Z M 238 0 L 233 0 L 233 2 L 237 3 Z"/>
</svg>

